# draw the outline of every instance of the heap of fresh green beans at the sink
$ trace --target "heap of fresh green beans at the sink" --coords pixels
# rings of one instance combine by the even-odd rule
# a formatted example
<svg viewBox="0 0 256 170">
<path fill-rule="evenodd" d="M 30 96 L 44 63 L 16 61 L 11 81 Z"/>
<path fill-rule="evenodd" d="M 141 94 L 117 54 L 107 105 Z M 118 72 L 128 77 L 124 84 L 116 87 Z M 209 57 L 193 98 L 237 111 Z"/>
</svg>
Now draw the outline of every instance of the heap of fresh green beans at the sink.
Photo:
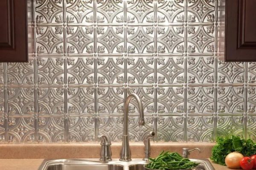
<svg viewBox="0 0 256 170">
<path fill-rule="evenodd" d="M 198 163 L 183 158 L 177 152 L 162 152 L 156 158 L 149 158 L 149 164 L 145 167 L 154 170 L 186 170 L 197 167 Z"/>
</svg>

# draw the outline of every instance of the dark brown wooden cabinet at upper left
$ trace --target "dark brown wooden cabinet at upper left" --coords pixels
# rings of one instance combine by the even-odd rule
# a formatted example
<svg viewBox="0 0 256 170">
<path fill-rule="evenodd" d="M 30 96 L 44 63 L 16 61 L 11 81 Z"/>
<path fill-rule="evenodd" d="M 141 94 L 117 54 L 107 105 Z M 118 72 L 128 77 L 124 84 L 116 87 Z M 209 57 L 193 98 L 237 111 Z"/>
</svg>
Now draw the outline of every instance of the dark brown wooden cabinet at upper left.
<svg viewBox="0 0 256 170">
<path fill-rule="evenodd" d="M 27 1 L 0 0 L 0 62 L 28 61 Z"/>
</svg>

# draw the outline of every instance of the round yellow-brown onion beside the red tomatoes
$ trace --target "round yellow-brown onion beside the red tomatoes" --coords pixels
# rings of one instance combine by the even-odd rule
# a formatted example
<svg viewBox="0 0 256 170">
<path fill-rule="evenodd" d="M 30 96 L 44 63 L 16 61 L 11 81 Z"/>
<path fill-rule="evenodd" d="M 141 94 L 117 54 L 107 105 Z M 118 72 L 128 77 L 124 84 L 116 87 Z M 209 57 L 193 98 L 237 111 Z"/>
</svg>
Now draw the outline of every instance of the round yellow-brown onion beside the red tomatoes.
<svg viewBox="0 0 256 170">
<path fill-rule="evenodd" d="M 240 161 L 244 156 L 238 152 L 232 152 L 226 156 L 225 163 L 229 168 L 240 168 Z"/>
</svg>

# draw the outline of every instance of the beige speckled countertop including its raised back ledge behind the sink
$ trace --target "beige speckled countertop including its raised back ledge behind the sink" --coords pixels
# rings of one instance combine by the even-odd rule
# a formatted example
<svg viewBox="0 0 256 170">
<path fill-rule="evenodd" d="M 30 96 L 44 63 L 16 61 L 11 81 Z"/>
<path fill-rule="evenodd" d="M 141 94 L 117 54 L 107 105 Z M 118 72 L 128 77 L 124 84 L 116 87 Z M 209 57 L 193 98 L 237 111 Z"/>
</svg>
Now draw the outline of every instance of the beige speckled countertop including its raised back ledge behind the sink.
<svg viewBox="0 0 256 170">
<path fill-rule="evenodd" d="M 214 143 L 151 143 L 151 156 L 162 150 L 181 153 L 183 147 L 198 147 L 201 154 L 192 152 L 189 158 L 209 158 Z M 113 143 L 112 158 L 119 158 L 121 143 Z M 142 158 L 143 143 L 130 143 L 132 158 Z M 99 143 L 80 144 L 0 144 L 0 170 L 38 170 L 44 159 L 99 158 Z M 215 170 L 230 170 L 225 166 L 212 163 Z"/>
</svg>

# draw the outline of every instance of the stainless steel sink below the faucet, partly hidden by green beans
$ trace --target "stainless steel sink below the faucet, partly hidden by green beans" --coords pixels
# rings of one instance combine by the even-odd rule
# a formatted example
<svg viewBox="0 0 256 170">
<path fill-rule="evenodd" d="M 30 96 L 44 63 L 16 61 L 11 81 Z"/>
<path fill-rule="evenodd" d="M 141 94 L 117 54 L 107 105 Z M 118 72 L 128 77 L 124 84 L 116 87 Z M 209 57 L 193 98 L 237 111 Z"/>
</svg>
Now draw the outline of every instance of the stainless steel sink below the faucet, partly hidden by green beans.
<svg viewBox="0 0 256 170">
<path fill-rule="evenodd" d="M 45 160 L 38 170 L 145 170 L 143 165 L 147 162 L 142 159 L 133 159 L 129 162 L 113 159 L 110 162 L 99 159 L 58 159 Z M 191 159 L 200 163 L 194 170 L 214 170 L 208 159 Z"/>
</svg>

